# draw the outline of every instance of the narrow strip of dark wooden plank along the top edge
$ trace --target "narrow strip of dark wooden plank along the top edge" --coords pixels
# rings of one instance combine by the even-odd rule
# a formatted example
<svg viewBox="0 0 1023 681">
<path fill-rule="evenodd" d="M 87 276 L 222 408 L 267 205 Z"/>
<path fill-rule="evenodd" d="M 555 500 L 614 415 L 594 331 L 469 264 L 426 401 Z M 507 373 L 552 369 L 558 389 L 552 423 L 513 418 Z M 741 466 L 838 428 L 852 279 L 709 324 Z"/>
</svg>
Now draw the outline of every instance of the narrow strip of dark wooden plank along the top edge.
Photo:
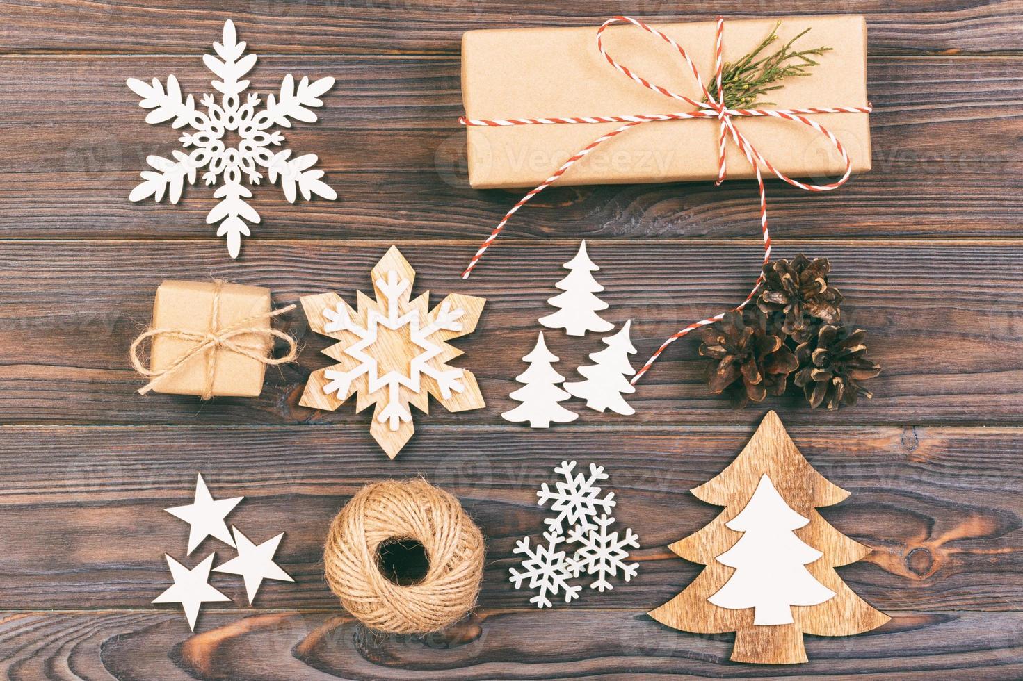
<svg viewBox="0 0 1023 681">
<path fill-rule="evenodd" d="M 696 0 L 684 8 L 667 0 L 594 0 L 571 8 L 540 0 L 177 0 L 173 8 L 121 0 L 17 0 L 4 5 L 0 50 L 190 52 L 195 44 L 209 44 L 210 32 L 231 18 L 241 39 L 262 52 L 452 54 L 470 29 L 595 27 L 615 14 L 654 22 L 822 12 L 865 14 L 876 52 L 1023 49 L 1018 0 L 852 0 L 825 7 L 812 0 Z M 180 20 L 169 25 L 171 16 Z"/>
</svg>

